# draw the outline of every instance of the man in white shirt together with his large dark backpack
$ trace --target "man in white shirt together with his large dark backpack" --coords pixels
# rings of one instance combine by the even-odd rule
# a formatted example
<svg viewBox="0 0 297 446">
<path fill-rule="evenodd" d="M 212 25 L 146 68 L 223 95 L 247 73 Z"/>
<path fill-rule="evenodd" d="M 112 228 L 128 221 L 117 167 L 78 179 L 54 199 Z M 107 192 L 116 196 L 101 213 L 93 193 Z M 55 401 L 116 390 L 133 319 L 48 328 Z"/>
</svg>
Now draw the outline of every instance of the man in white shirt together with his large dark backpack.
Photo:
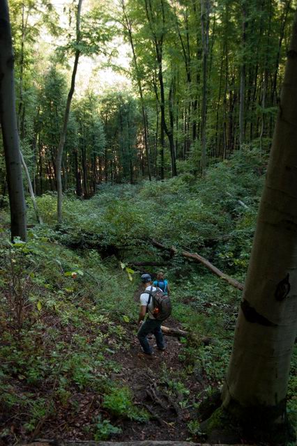
<svg viewBox="0 0 297 446">
<path fill-rule="evenodd" d="M 161 289 L 153 286 L 151 276 L 143 274 L 141 277 L 144 285 L 144 293 L 140 295 L 140 310 L 138 318 L 139 330 L 137 337 L 139 339 L 142 350 L 146 355 L 152 355 L 153 351 L 148 343 L 147 335 L 153 333 L 160 351 L 165 350 L 164 339 L 161 330 L 161 323 L 171 313 L 172 307 L 169 296 Z M 146 321 L 144 318 L 148 314 Z"/>
</svg>

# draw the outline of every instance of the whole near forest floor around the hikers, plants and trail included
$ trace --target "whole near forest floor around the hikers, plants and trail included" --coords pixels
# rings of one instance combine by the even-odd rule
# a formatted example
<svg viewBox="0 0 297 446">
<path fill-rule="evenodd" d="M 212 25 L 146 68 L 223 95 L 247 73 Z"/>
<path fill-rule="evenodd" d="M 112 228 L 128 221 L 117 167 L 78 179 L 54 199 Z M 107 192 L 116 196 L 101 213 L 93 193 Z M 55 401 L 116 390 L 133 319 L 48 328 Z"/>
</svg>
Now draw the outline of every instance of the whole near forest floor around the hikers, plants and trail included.
<svg viewBox="0 0 297 446">
<path fill-rule="evenodd" d="M 56 240 L 64 242 L 63 233 L 29 234 L 26 245 L 7 247 L 2 233 L 0 446 L 38 438 L 203 441 L 199 405 L 222 386 L 238 290 L 198 269 L 192 282 L 178 280 L 178 269 L 168 268 L 173 314 L 164 325 L 193 336 L 165 335 L 166 350 L 146 356 L 137 339 L 138 272 L 130 277 L 119 258 L 101 259 L 94 249 L 68 249 Z M 17 302 L 25 304 L 18 329 Z"/>
</svg>

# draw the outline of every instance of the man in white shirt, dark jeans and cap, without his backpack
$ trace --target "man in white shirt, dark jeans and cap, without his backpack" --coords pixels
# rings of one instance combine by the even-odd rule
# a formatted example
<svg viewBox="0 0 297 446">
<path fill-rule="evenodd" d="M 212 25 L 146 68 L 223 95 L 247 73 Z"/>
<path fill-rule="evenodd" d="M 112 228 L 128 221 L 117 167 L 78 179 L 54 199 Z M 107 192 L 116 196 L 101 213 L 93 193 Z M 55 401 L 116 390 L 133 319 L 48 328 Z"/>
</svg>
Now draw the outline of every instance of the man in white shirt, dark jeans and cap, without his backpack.
<svg viewBox="0 0 297 446">
<path fill-rule="evenodd" d="M 137 337 L 139 339 L 140 345 L 142 346 L 143 353 L 145 353 L 146 355 L 152 355 L 153 350 L 147 339 L 147 335 L 149 333 L 153 333 L 155 335 L 158 350 L 165 350 L 165 344 L 161 330 L 162 322 L 158 321 L 158 319 L 153 316 L 153 299 L 151 298 L 149 293 L 146 293 L 146 291 L 157 291 L 155 286 L 153 286 L 152 284 L 151 276 L 149 274 L 143 274 L 141 280 L 142 284 L 144 285 L 144 293 L 140 295 L 140 310 L 138 318 L 139 330 L 137 333 Z M 146 313 L 148 313 L 148 317 L 146 318 L 146 321 L 144 321 Z"/>
</svg>

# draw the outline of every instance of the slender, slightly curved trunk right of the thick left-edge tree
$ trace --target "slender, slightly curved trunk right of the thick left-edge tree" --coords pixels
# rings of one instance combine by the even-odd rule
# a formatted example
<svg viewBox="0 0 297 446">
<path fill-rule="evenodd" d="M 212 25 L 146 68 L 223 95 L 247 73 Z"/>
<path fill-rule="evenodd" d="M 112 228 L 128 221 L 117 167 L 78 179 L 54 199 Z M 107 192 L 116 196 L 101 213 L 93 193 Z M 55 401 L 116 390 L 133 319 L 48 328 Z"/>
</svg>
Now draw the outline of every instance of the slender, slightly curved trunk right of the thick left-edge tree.
<svg viewBox="0 0 297 446">
<path fill-rule="evenodd" d="M 77 44 L 80 41 L 80 12 L 82 9 L 82 0 L 78 1 L 77 5 L 77 17 L 76 17 L 76 40 Z M 63 128 L 61 132 L 59 147 L 58 147 L 58 153 L 56 155 L 56 188 L 57 188 L 57 194 L 58 194 L 58 202 L 57 202 L 57 211 L 58 211 L 58 222 L 62 222 L 62 200 L 63 200 L 63 191 L 62 191 L 62 178 L 61 178 L 61 167 L 62 167 L 62 156 L 63 156 L 63 148 L 66 141 L 66 132 L 68 127 L 68 120 L 69 120 L 69 113 L 70 113 L 70 106 L 71 101 L 73 99 L 73 93 L 75 91 L 75 77 L 77 73 L 77 66 L 80 56 L 80 50 L 77 49 L 75 51 L 75 61 L 73 65 L 73 74 L 71 77 L 71 86 L 68 93 L 68 98 L 66 102 L 66 109 L 64 113 L 63 118 Z"/>
</svg>

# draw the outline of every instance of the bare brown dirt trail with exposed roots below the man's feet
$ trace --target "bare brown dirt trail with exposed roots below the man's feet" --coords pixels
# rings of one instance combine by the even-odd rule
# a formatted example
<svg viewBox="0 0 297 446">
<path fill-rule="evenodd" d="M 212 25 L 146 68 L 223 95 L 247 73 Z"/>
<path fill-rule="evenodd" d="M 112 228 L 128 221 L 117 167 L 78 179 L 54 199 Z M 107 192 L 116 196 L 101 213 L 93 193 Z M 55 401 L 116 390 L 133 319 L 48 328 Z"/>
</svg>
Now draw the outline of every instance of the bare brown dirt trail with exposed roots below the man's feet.
<svg viewBox="0 0 297 446">
<path fill-rule="evenodd" d="M 135 292 L 135 302 L 139 302 L 141 291 L 142 289 L 138 289 Z M 166 326 L 182 328 L 173 318 L 167 319 Z M 123 422 L 123 433 L 119 438 L 122 441 L 186 440 L 190 436 L 188 422 L 195 417 L 192 402 L 201 387 L 193 376 L 181 378 L 185 388 L 190 391 L 189 395 L 176 392 L 170 386 L 172 375 L 178 381 L 178 372 L 184 367 L 178 358 L 182 348 L 181 341 L 176 337 L 165 336 L 166 350 L 158 351 L 153 348 L 153 356 L 146 356 L 141 353 L 136 326 L 131 327 L 127 335 L 130 349 L 118 352 L 114 357 L 123 367 L 121 374 L 116 377 L 130 387 L 135 395 L 135 403 L 146 408 L 152 419 L 145 424 Z M 153 335 L 149 341 L 152 346 L 155 345 Z"/>
</svg>

